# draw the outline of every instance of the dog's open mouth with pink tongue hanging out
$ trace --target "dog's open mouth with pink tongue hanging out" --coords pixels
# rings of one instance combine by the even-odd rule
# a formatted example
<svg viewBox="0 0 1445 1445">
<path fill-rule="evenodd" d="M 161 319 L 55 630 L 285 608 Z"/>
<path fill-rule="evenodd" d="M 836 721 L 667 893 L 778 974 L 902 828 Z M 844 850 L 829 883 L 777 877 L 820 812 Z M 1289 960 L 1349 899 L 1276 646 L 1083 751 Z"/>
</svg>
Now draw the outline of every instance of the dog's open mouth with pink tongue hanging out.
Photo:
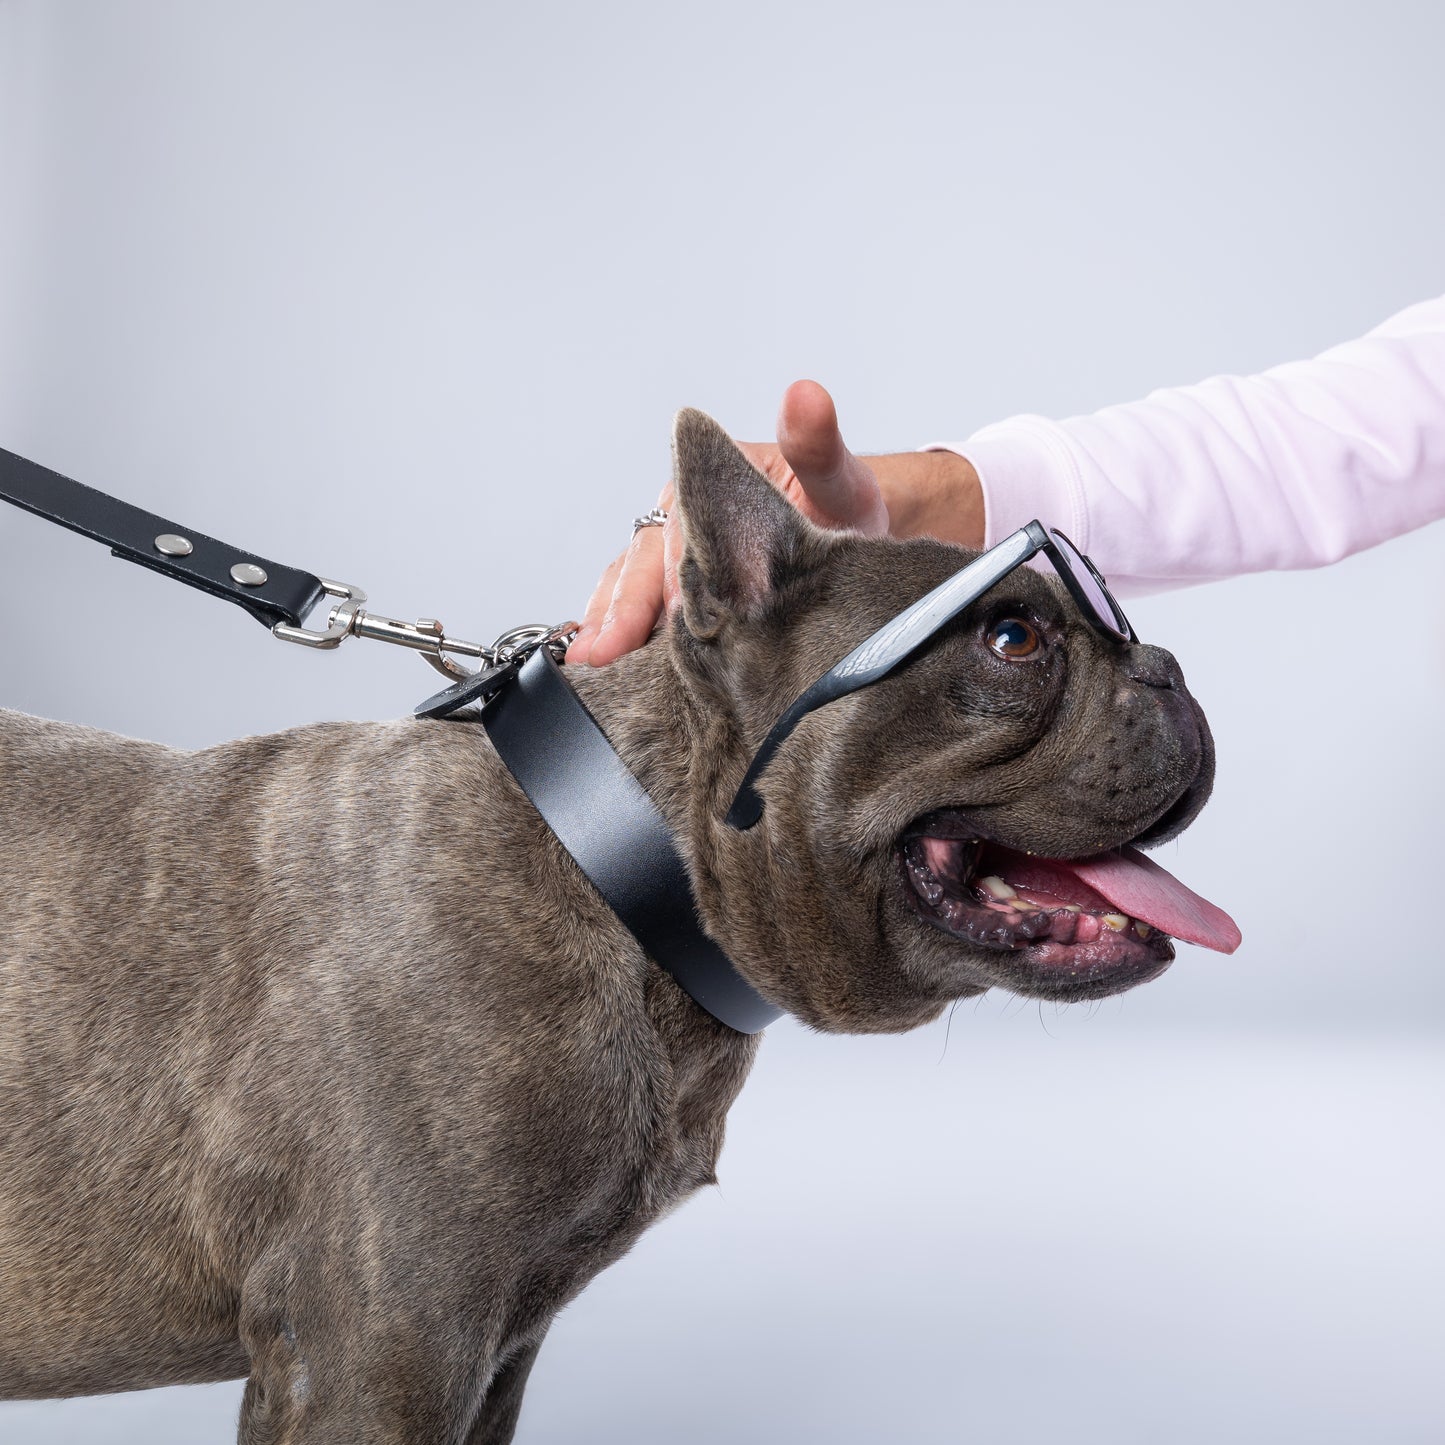
<svg viewBox="0 0 1445 1445">
<path fill-rule="evenodd" d="M 1238 948 L 1222 909 L 1134 848 L 1040 858 L 955 832 L 958 816 L 941 814 L 902 841 L 918 912 L 978 948 L 1022 955 L 1036 977 L 1120 987 L 1160 972 L 1176 938 Z"/>
</svg>

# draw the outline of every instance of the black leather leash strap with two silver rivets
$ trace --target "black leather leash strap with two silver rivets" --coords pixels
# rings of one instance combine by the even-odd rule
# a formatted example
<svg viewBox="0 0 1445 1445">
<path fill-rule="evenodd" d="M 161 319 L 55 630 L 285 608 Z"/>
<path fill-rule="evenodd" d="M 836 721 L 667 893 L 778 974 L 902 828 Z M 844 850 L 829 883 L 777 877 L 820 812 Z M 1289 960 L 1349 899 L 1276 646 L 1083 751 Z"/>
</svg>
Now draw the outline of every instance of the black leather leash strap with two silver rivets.
<svg viewBox="0 0 1445 1445">
<path fill-rule="evenodd" d="M 267 627 L 277 623 L 301 627 L 324 592 L 321 578 L 311 572 L 176 526 L 4 448 L 0 448 L 0 499 L 103 542 L 114 556 L 237 603 Z"/>
</svg>

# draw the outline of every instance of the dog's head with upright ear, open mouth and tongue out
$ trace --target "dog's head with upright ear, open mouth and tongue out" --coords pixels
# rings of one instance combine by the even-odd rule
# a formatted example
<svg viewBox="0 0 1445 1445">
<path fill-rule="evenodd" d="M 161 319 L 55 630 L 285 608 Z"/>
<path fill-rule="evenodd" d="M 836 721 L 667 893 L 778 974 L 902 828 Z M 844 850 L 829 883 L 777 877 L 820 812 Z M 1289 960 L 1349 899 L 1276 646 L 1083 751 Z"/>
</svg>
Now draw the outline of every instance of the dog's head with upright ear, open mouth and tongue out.
<svg viewBox="0 0 1445 1445">
<path fill-rule="evenodd" d="M 990 987 L 1117 993 L 1168 967 L 1170 935 L 1237 944 L 1129 847 L 1178 834 L 1212 783 L 1178 665 L 1104 637 L 1029 568 L 809 714 L 760 779 L 762 821 L 730 828 L 783 709 L 970 553 L 814 527 L 699 412 L 673 445 L 672 647 L 711 720 L 689 841 L 709 929 L 762 993 L 819 1029 L 896 1030 Z"/>
</svg>

